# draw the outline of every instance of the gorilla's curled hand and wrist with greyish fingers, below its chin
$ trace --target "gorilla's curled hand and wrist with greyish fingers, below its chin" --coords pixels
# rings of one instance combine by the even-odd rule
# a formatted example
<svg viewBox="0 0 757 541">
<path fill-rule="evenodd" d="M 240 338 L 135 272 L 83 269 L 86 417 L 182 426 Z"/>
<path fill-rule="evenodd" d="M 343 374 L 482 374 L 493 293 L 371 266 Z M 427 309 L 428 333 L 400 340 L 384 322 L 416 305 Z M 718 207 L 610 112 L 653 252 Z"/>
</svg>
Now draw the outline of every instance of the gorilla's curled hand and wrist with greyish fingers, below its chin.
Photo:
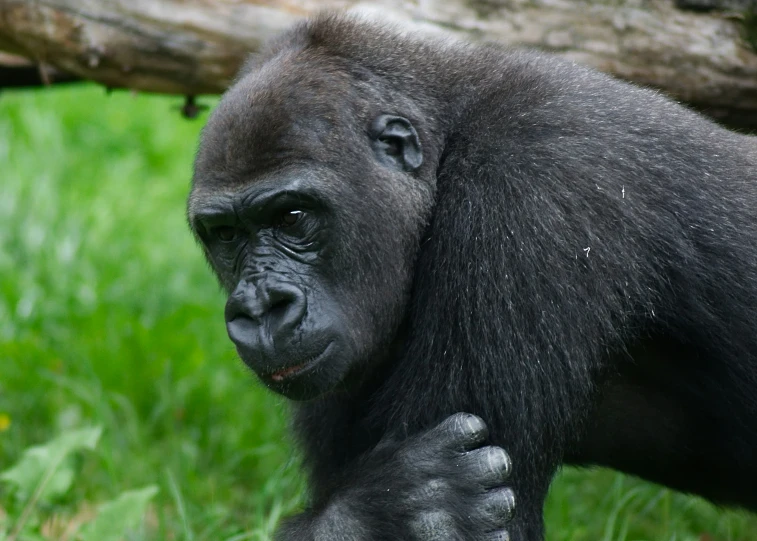
<svg viewBox="0 0 757 541">
<path fill-rule="evenodd" d="M 475 415 L 457 413 L 401 443 L 382 442 L 318 513 L 296 517 L 281 540 L 504 541 L 515 496 L 511 462 L 484 445 Z"/>
</svg>

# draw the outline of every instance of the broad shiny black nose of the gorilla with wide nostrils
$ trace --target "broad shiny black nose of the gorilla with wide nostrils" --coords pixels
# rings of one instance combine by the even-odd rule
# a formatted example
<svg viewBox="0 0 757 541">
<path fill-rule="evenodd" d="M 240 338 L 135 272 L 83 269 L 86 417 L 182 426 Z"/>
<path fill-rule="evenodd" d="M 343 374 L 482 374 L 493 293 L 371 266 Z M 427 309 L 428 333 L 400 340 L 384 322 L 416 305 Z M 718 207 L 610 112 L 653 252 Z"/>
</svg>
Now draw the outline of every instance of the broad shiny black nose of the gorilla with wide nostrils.
<svg viewBox="0 0 757 541">
<path fill-rule="evenodd" d="M 293 284 L 240 282 L 226 303 L 226 330 L 243 349 L 289 338 L 305 317 L 305 293 Z"/>
</svg>

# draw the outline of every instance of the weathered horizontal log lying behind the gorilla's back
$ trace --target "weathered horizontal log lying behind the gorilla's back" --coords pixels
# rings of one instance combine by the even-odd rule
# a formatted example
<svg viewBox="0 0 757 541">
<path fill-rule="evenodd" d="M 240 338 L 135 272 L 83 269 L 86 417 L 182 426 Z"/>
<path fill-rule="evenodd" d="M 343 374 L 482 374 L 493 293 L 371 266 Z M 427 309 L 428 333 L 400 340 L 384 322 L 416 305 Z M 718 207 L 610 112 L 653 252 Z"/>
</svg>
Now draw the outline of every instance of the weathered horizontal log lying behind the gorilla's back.
<svg viewBox="0 0 757 541">
<path fill-rule="evenodd" d="M 673 0 L 0 0 L 0 50 L 108 87 L 212 94 L 264 40 L 324 7 L 538 47 L 757 125 L 743 16 Z"/>
</svg>

